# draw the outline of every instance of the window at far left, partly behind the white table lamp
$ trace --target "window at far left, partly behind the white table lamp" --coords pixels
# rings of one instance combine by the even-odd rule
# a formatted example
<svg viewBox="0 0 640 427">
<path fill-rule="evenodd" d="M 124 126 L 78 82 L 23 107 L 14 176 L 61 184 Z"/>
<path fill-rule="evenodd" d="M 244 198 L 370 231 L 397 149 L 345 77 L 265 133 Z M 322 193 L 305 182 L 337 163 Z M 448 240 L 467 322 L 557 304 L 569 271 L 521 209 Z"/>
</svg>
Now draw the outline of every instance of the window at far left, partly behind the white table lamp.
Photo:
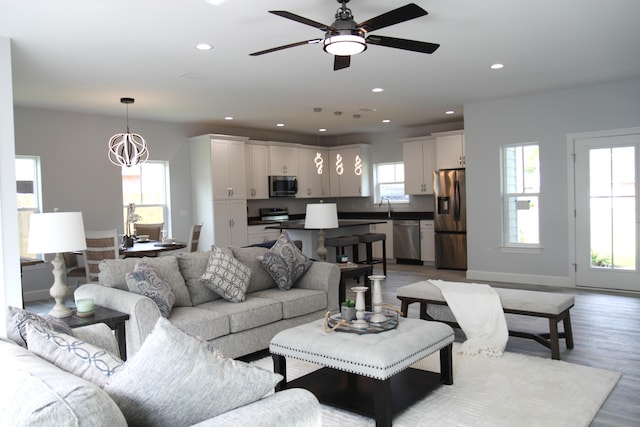
<svg viewBox="0 0 640 427">
<path fill-rule="evenodd" d="M 40 158 L 16 156 L 15 165 L 20 256 L 34 258 L 36 254 L 27 252 L 27 242 L 29 241 L 29 220 L 31 215 L 42 212 Z"/>
</svg>

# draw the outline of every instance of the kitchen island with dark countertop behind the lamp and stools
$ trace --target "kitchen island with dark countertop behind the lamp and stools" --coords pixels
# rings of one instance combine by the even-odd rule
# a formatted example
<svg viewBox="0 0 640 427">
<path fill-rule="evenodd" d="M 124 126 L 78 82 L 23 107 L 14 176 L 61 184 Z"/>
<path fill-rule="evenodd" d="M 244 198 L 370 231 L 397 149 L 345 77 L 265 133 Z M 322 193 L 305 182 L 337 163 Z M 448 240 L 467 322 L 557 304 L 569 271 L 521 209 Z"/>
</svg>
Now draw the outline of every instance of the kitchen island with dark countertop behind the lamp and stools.
<svg viewBox="0 0 640 427">
<path fill-rule="evenodd" d="M 340 219 L 338 220 L 338 228 L 329 228 L 324 230 L 325 238 L 339 236 L 353 236 L 369 232 L 369 226 L 372 224 L 383 224 L 382 220 L 357 220 L 357 219 Z M 280 224 L 274 224 L 265 227 L 267 229 L 287 230 L 287 234 L 291 240 L 300 240 L 302 242 L 302 252 L 309 258 L 318 259 L 318 230 L 304 228 L 304 220 L 285 221 Z M 349 248 L 349 261 L 357 261 L 353 259 L 351 248 Z M 362 253 L 362 252 L 361 252 Z M 327 247 L 327 261 L 335 262 L 335 248 Z"/>
</svg>

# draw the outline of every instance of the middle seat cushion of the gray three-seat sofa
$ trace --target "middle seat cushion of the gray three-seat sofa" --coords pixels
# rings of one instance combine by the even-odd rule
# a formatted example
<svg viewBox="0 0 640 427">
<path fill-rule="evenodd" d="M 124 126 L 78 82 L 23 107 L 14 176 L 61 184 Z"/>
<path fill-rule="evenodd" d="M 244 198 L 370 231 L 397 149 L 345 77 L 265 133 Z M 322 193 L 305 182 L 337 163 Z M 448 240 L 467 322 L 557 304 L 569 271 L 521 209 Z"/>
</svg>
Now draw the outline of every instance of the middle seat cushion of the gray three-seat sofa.
<svg viewBox="0 0 640 427">
<path fill-rule="evenodd" d="M 229 316 L 231 333 L 253 329 L 282 319 L 282 304 L 279 301 L 255 298 L 253 294 L 248 294 L 242 304 L 229 304 L 223 300 L 216 300 L 204 303 L 198 308 Z"/>
</svg>

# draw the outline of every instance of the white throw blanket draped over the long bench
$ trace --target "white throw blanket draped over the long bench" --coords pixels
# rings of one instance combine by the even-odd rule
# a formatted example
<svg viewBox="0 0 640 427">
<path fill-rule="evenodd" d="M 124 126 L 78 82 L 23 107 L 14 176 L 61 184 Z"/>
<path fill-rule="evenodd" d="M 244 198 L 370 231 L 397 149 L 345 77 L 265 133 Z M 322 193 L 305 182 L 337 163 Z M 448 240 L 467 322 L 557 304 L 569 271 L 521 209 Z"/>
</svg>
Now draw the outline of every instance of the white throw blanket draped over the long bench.
<svg viewBox="0 0 640 427">
<path fill-rule="evenodd" d="M 442 296 L 467 336 L 465 355 L 500 357 L 509 338 L 500 297 L 489 285 L 429 280 Z"/>
</svg>

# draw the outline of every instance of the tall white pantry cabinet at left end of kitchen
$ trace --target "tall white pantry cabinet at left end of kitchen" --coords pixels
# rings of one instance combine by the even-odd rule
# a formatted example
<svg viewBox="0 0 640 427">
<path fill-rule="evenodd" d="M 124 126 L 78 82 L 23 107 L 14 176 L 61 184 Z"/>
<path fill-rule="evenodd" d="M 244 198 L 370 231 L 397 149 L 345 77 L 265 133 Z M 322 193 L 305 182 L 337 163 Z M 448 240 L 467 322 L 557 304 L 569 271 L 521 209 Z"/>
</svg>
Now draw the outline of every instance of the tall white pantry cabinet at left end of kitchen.
<svg viewBox="0 0 640 427">
<path fill-rule="evenodd" d="M 209 134 L 189 139 L 193 222 L 202 223 L 202 247 L 247 244 L 245 141 Z"/>
</svg>

